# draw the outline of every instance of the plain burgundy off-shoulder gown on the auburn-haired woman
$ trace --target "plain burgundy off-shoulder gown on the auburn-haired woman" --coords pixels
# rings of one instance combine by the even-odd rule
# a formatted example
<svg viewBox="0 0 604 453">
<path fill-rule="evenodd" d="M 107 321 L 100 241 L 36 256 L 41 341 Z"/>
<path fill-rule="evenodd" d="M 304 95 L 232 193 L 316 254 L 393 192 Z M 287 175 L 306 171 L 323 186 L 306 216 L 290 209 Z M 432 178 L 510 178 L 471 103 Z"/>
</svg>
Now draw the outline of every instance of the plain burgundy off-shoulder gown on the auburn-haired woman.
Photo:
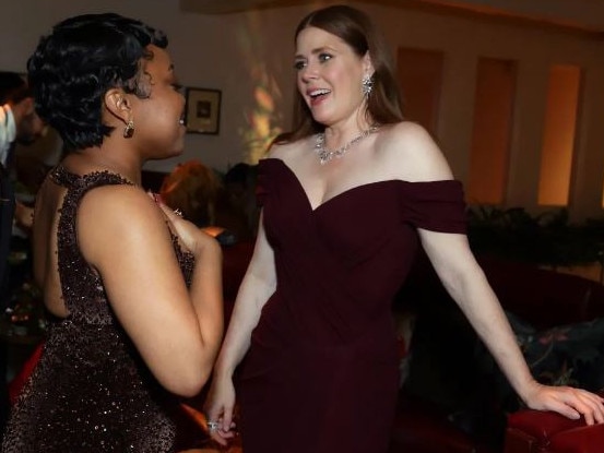
<svg viewBox="0 0 604 453">
<path fill-rule="evenodd" d="M 387 180 L 312 210 L 280 159 L 259 199 L 277 286 L 238 381 L 245 453 L 384 453 L 399 390 L 391 302 L 416 228 L 465 233 L 459 181 Z"/>
</svg>

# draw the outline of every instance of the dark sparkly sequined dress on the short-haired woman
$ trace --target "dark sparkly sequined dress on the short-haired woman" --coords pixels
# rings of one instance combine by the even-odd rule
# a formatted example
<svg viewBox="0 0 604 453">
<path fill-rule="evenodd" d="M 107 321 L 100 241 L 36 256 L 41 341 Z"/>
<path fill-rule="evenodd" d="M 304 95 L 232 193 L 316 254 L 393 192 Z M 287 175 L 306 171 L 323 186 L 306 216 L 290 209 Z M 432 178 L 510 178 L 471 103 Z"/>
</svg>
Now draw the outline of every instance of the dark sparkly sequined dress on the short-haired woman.
<svg viewBox="0 0 604 453">
<path fill-rule="evenodd" d="M 78 248 L 82 196 L 96 187 L 129 182 L 107 171 L 79 177 L 62 167 L 49 177 L 68 188 L 58 260 L 70 314 L 50 327 L 40 361 L 14 406 L 2 452 L 173 452 L 176 428 L 167 414 L 176 397 L 142 362 L 111 311 L 103 282 Z M 173 240 L 189 283 L 192 255 Z"/>
</svg>

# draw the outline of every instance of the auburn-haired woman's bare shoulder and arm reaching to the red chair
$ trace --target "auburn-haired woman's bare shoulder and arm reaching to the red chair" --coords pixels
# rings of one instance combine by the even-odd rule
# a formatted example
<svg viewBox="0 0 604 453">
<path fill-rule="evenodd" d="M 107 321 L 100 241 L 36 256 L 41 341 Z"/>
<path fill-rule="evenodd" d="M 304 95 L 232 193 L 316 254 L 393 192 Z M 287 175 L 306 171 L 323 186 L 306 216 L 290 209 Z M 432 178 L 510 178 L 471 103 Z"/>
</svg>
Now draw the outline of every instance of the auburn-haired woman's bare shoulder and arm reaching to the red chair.
<svg viewBox="0 0 604 453">
<path fill-rule="evenodd" d="M 447 159 L 418 124 L 396 124 L 383 146 L 387 151 L 384 163 L 388 168 L 398 169 L 395 177 L 400 179 L 436 181 L 452 178 Z M 556 410 L 569 418 L 579 418 L 582 414 L 588 424 L 604 421 L 603 401 L 597 395 L 572 388 L 541 385 L 533 379 L 465 235 L 422 228 L 418 234 L 442 284 L 485 342 L 519 396 L 535 409 Z"/>
</svg>

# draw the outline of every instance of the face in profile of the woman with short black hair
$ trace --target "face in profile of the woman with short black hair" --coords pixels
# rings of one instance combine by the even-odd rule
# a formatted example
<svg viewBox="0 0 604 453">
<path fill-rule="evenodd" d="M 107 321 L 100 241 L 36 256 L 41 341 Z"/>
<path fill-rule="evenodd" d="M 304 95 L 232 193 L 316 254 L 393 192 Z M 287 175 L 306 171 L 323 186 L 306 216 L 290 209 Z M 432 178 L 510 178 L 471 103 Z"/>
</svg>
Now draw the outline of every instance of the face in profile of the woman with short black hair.
<svg viewBox="0 0 604 453">
<path fill-rule="evenodd" d="M 151 60 L 143 61 L 143 83 L 149 85 L 149 97 L 130 96 L 132 102 L 133 139 L 147 158 L 177 156 L 183 150 L 185 97 L 176 82 L 174 64 L 166 50 L 149 46 Z"/>
</svg>

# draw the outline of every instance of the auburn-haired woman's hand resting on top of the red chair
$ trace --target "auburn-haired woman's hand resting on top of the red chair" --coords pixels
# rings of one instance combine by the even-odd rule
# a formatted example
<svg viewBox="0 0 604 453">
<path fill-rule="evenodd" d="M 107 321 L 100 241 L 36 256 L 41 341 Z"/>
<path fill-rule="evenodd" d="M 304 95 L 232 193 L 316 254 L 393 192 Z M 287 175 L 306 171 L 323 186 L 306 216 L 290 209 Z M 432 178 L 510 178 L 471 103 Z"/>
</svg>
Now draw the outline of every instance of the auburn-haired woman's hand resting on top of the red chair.
<svg viewBox="0 0 604 453">
<path fill-rule="evenodd" d="M 525 403 L 532 409 L 554 410 L 573 420 L 583 416 L 587 425 L 604 422 L 604 398 L 587 390 L 535 382 Z"/>
</svg>

